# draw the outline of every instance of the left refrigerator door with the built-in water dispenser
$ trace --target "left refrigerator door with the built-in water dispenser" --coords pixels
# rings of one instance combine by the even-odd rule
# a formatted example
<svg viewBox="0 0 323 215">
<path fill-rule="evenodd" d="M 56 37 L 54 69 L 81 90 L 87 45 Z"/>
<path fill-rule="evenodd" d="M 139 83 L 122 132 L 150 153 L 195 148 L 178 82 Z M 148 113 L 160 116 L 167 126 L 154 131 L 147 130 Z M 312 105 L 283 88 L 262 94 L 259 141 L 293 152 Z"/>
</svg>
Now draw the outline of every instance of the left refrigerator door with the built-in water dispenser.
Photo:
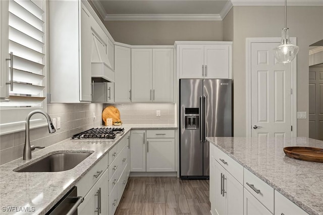
<svg viewBox="0 0 323 215">
<path fill-rule="evenodd" d="M 202 80 L 180 80 L 181 176 L 203 175 L 203 138 L 200 132 L 202 95 Z M 192 124 L 193 119 L 195 125 Z"/>
</svg>

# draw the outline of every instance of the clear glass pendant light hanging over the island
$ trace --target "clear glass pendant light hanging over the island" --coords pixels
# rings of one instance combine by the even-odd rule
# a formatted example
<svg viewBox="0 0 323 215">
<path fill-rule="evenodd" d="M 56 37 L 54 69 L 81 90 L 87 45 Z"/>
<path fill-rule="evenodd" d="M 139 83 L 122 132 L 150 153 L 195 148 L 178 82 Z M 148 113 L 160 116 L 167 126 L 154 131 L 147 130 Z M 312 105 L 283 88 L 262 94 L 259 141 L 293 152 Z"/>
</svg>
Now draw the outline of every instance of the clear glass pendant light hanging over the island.
<svg viewBox="0 0 323 215">
<path fill-rule="evenodd" d="M 289 40 L 289 32 L 286 27 L 287 21 L 287 0 L 285 0 L 285 28 L 282 29 L 282 40 L 279 46 L 274 48 L 275 58 L 279 63 L 289 63 L 291 62 L 298 53 L 298 46 L 293 45 Z"/>
</svg>

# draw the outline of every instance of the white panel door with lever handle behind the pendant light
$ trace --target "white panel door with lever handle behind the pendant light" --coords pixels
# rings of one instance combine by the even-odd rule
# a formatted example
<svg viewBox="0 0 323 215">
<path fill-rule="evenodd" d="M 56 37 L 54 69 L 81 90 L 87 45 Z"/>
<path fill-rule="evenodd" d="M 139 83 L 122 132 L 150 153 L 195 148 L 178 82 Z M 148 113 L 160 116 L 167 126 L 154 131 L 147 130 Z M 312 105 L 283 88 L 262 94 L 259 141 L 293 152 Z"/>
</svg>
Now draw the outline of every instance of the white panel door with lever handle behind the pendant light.
<svg viewBox="0 0 323 215">
<path fill-rule="evenodd" d="M 291 136 L 291 63 L 278 63 L 279 43 L 251 44 L 252 136 Z"/>
</svg>

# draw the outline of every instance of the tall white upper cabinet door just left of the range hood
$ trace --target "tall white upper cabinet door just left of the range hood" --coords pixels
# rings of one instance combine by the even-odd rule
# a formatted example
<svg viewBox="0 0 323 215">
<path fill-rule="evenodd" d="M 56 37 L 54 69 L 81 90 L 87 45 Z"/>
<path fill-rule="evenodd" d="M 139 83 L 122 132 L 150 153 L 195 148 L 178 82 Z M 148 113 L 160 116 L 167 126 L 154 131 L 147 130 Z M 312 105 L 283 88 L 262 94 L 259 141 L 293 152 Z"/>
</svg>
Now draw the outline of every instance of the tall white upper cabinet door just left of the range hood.
<svg viewBox="0 0 323 215">
<path fill-rule="evenodd" d="M 90 12 L 81 4 L 80 101 L 91 101 Z M 66 50 L 68 51 L 68 50 Z"/>
</svg>

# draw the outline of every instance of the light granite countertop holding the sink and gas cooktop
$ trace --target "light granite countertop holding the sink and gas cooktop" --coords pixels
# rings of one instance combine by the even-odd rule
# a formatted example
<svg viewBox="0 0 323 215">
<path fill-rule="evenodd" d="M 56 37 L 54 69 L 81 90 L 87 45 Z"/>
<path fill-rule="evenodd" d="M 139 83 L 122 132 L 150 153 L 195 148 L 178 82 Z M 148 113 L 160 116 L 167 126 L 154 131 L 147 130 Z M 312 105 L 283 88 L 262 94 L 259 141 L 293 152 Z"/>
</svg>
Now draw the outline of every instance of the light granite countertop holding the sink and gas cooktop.
<svg viewBox="0 0 323 215">
<path fill-rule="evenodd" d="M 111 126 L 109 126 L 111 127 Z M 113 126 L 116 127 L 116 126 Z M 122 125 L 125 133 L 114 141 L 66 139 L 22 158 L 0 166 L 0 214 L 45 214 L 122 139 L 131 129 L 177 129 L 175 124 Z M 63 172 L 14 172 L 50 154 L 93 152 L 75 168 Z M 106 164 L 107 166 L 107 164 Z M 29 212 L 5 211 L 5 207 L 29 208 Z M 34 208 L 34 209 L 33 209 Z M 34 211 L 31 211 L 34 210 Z"/>
</svg>

